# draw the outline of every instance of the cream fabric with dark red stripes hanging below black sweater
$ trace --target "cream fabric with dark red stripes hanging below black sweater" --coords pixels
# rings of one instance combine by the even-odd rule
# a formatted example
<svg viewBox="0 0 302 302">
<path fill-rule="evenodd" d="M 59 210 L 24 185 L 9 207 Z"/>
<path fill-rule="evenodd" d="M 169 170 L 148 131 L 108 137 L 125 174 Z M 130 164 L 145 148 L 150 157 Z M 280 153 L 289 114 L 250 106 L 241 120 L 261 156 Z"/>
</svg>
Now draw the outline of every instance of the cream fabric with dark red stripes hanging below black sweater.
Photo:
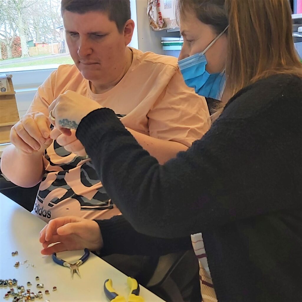
<svg viewBox="0 0 302 302">
<path fill-rule="evenodd" d="M 195 255 L 199 262 L 199 278 L 200 278 L 200 289 L 201 297 L 203 302 L 217 302 L 209 265 L 207 263 L 207 255 L 204 249 L 204 240 L 202 234 L 191 235 L 192 246 Z"/>
</svg>

